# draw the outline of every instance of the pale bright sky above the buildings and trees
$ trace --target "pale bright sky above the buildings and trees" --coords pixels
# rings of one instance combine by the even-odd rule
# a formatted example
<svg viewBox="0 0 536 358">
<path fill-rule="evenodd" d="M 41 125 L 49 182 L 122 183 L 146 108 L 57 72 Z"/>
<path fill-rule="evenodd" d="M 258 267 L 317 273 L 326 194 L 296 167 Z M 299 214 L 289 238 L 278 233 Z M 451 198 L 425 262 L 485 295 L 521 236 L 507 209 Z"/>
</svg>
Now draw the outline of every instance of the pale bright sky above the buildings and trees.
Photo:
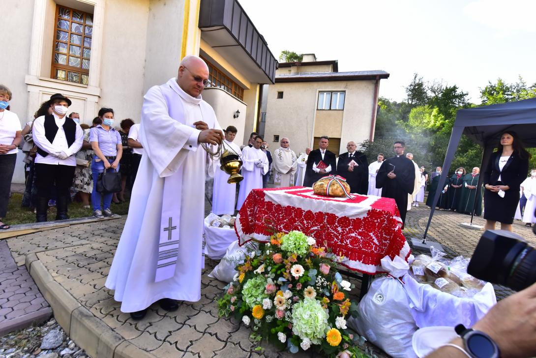
<svg viewBox="0 0 536 358">
<path fill-rule="evenodd" d="M 536 83 L 536 1 L 239 0 L 276 59 L 337 59 L 339 72 L 384 70 L 379 95 L 405 99 L 414 73 L 480 103 L 479 88 Z"/>
</svg>

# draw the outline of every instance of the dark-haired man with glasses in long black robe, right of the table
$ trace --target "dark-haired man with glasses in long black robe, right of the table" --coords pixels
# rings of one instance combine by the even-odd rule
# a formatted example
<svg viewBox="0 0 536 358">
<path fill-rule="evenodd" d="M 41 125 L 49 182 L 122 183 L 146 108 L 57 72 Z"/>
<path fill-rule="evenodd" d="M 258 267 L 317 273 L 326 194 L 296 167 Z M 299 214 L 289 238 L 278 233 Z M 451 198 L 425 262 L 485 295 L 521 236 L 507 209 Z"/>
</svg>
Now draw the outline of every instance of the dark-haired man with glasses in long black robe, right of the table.
<svg viewBox="0 0 536 358">
<path fill-rule="evenodd" d="M 403 142 L 394 143 L 397 155 L 385 160 L 376 175 L 376 188 L 382 188 L 382 197 L 393 198 L 397 203 L 402 228 L 406 222 L 407 195 L 413 192 L 415 186 L 415 166 L 404 155 L 404 147 Z"/>
</svg>

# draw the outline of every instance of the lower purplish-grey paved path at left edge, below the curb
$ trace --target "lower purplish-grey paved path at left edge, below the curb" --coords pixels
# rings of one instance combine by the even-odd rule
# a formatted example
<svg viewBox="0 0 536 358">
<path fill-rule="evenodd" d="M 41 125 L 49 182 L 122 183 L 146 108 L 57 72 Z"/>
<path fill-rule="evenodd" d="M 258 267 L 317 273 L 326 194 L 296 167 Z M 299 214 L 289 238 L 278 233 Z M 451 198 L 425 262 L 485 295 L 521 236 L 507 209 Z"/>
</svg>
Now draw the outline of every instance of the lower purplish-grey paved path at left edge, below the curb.
<svg viewBox="0 0 536 358">
<path fill-rule="evenodd" d="M 25 266 L 17 266 L 8 244 L 0 241 L 0 336 L 40 323 L 52 315 Z"/>
</svg>

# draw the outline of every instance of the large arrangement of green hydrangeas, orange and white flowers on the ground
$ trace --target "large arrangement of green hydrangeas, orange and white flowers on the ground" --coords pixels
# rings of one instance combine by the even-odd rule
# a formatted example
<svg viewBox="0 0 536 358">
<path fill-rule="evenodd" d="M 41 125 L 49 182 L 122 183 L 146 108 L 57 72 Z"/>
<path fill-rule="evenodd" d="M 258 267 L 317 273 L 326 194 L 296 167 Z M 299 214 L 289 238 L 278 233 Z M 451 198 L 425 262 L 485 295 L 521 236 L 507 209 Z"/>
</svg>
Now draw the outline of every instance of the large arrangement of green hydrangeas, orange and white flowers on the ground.
<svg viewBox="0 0 536 358">
<path fill-rule="evenodd" d="M 358 308 L 348 297 L 353 285 L 334 270 L 333 257 L 298 231 L 258 242 L 218 300 L 220 316 L 234 315 L 252 326 L 253 339 L 292 353 L 314 347 L 329 357 L 363 356 L 346 328 Z"/>
</svg>

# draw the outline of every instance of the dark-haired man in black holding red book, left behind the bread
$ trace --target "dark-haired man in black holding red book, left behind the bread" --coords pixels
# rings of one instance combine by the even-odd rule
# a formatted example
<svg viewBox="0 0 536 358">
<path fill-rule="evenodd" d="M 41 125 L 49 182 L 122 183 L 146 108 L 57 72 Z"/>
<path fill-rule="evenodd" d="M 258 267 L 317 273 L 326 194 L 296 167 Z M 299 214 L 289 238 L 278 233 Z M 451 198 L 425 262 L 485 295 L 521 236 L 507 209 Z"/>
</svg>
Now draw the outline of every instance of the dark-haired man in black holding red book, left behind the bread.
<svg viewBox="0 0 536 358">
<path fill-rule="evenodd" d="M 309 153 L 307 158 L 307 167 L 305 170 L 305 178 L 303 179 L 304 187 L 312 187 L 320 178 L 337 173 L 337 161 L 335 153 L 327 150 L 329 145 L 329 137 L 322 136 L 318 141 L 319 149 L 315 149 Z"/>
</svg>

